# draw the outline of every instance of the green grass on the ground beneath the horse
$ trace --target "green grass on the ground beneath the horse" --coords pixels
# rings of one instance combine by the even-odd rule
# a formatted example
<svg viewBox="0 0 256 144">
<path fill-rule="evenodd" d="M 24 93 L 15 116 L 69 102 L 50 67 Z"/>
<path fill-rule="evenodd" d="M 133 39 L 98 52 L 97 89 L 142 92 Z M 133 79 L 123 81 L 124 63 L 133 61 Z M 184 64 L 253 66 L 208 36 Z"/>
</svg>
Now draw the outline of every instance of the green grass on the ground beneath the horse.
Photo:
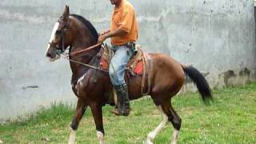
<svg viewBox="0 0 256 144">
<path fill-rule="evenodd" d="M 172 103 L 182 118 L 178 143 L 256 143 L 256 83 L 214 90 L 211 106 L 205 106 L 198 93 L 178 95 Z M 131 102 L 131 107 L 129 117 L 110 114 L 110 106 L 103 108 L 106 143 L 142 143 L 161 122 L 150 98 Z M 0 140 L 4 143 L 67 143 L 73 114 L 74 106 L 53 104 L 24 122 L 0 126 Z M 168 123 L 154 143 L 169 143 L 172 131 Z M 98 143 L 90 109 L 78 127 L 77 143 Z"/>
</svg>

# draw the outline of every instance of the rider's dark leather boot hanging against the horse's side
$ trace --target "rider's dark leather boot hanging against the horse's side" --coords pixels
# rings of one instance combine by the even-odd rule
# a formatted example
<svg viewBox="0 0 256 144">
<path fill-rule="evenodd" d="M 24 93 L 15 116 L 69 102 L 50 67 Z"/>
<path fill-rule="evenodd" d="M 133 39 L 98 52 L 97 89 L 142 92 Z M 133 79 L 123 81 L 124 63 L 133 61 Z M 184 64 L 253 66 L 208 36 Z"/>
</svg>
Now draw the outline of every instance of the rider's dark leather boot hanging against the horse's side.
<svg viewBox="0 0 256 144">
<path fill-rule="evenodd" d="M 114 86 L 118 95 L 118 106 L 115 106 L 111 112 L 116 115 L 128 116 L 130 114 L 130 102 L 128 95 L 128 88 L 126 84 L 121 86 Z"/>
</svg>

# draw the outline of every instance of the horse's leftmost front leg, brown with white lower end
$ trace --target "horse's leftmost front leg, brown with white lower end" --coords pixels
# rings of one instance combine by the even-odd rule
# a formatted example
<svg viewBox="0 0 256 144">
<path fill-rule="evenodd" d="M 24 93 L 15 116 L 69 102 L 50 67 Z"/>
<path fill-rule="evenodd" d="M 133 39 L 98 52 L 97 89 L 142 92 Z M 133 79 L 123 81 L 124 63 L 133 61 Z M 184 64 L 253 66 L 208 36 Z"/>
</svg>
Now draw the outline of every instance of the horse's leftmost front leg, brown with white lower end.
<svg viewBox="0 0 256 144">
<path fill-rule="evenodd" d="M 75 115 L 73 121 L 70 124 L 70 140 L 69 144 L 74 144 L 75 141 L 75 132 L 78 129 L 78 124 L 82 119 L 83 114 L 86 111 L 86 104 L 78 99 L 77 108 L 75 110 Z"/>
</svg>

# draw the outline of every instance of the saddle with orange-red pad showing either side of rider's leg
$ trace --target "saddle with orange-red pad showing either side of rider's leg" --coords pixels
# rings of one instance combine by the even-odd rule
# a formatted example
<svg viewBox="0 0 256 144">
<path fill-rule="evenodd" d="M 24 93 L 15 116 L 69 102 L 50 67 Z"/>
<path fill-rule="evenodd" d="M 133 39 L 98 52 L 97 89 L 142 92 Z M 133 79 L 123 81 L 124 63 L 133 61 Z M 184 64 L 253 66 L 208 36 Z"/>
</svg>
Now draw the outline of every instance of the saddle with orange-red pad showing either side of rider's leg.
<svg viewBox="0 0 256 144">
<path fill-rule="evenodd" d="M 141 76 L 143 74 L 143 61 L 146 60 L 144 57 L 142 46 L 135 46 L 136 53 L 130 58 L 126 66 L 129 76 Z M 102 70 L 109 70 L 111 58 L 114 56 L 114 51 L 110 49 L 110 46 L 104 45 L 102 49 L 102 57 L 100 66 Z"/>
</svg>

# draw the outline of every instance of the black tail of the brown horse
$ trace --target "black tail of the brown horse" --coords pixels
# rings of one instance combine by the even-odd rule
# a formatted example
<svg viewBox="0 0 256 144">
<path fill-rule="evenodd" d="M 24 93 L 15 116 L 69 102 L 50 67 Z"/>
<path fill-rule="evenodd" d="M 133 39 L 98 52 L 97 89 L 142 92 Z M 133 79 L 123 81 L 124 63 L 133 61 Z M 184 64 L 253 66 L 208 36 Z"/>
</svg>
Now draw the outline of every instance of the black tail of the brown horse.
<svg viewBox="0 0 256 144">
<path fill-rule="evenodd" d="M 203 75 L 193 66 L 182 66 L 182 68 L 198 87 L 198 91 L 202 96 L 203 102 L 210 104 L 213 97 L 210 91 L 210 86 L 208 85 L 208 82 L 206 82 L 206 78 L 204 78 Z"/>
</svg>

